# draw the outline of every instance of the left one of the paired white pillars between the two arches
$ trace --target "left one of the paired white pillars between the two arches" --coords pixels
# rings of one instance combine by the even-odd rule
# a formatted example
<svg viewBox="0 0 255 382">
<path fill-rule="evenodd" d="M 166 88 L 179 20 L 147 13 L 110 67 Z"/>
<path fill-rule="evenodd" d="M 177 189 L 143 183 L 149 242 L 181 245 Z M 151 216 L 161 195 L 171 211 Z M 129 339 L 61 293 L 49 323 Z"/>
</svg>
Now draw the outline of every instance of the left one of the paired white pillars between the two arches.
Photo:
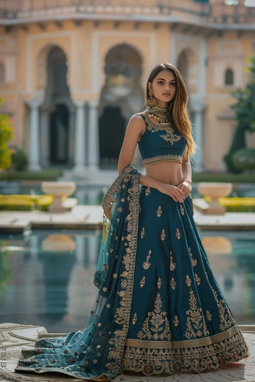
<svg viewBox="0 0 255 382">
<path fill-rule="evenodd" d="M 77 106 L 75 112 L 75 129 L 74 129 L 74 153 L 73 161 L 75 172 L 85 171 L 85 110 L 84 100 L 73 100 L 75 106 Z"/>
</svg>

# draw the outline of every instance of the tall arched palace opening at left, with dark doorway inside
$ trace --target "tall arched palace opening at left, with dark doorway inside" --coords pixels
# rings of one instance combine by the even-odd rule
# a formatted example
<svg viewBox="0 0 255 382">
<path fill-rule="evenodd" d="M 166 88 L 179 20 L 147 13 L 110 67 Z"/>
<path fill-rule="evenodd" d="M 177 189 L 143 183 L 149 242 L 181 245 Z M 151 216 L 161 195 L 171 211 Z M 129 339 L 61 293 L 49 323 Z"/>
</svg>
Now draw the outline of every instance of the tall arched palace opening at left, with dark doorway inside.
<svg viewBox="0 0 255 382">
<path fill-rule="evenodd" d="M 36 89 L 44 92 L 39 108 L 41 165 L 71 165 L 75 106 L 67 84 L 66 53 L 50 43 L 39 51 L 36 63 Z"/>
</svg>

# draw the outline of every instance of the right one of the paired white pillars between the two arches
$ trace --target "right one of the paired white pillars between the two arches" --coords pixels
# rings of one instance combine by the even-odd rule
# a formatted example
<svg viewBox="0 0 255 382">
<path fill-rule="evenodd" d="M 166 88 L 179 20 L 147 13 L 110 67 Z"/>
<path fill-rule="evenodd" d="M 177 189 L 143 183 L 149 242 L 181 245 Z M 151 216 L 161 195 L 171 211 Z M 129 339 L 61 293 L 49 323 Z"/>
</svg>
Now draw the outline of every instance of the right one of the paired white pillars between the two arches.
<svg viewBox="0 0 255 382">
<path fill-rule="evenodd" d="M 89 122 L 88 122 L 88 171 L 100 171 L 99 168 L 99 126 L 98 126 L 98 100 L 88 101 Z"/>
</svg>

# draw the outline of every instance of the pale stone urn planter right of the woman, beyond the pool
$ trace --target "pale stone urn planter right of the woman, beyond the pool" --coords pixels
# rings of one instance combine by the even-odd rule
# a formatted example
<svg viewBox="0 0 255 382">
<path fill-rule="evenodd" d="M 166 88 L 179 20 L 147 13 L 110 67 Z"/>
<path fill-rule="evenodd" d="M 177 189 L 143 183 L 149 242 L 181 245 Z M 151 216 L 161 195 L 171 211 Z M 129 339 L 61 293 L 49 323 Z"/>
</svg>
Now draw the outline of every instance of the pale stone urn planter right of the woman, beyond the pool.
<svg viewBox="0 0 255 382">
<path fill-rule="evenodd" d="M 197 190 L 203 196 L 210 196 L 212 201 L 206 203 L 206 207 L 201 209 L 202 213 L 214 214 L 214 215 L 224 215 L 225 208 L 219 204 L 218 199 L 220 197 L 226 197 L 230 195 L 233 190 L 232 183 L 224 182 L 198 182 Z"/>
</svg>

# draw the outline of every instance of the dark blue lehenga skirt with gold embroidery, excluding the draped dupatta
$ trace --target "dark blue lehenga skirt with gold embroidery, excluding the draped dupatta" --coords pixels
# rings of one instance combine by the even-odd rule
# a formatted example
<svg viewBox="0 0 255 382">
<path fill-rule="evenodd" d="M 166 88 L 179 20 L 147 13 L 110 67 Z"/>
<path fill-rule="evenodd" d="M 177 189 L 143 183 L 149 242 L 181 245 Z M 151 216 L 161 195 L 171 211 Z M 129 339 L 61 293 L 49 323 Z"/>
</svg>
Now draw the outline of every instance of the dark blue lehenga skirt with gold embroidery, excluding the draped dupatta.
<svg viewBox="0 0 255 382">
<path fill-rule="evenodd" d="M 175 202 L 142 185 L 122 370 L 213 371 L 248 355 L 201 243 L 191 195 Z"/>
</svg>

